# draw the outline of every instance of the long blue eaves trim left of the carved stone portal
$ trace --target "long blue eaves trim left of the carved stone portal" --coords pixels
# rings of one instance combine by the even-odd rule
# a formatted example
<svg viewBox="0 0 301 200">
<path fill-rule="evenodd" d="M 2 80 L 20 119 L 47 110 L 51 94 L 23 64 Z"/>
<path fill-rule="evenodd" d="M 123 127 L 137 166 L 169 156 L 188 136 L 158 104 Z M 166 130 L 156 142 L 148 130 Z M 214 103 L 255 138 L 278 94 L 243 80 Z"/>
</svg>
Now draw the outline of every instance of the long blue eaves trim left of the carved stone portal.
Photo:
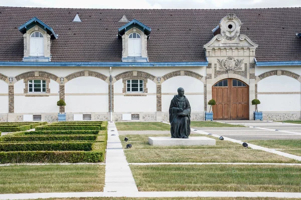
<svg viewBox="0 0 301 200">
<path fill-rule="evenodd" d="M 208 62 L 0 62 L 0 66 L 173 67 L 207 66 Z"/>
</svg>

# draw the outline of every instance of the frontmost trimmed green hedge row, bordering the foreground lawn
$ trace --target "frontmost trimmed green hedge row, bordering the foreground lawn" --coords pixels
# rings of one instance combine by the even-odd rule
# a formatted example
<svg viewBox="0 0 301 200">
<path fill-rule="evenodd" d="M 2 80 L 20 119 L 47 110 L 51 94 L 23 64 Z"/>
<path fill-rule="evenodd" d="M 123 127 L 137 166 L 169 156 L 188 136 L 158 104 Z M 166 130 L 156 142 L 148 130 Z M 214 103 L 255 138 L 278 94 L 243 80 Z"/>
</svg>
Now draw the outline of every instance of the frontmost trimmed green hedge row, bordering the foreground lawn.
<svg viewBox="0 0 301 200">
<path fill-rule="evenodd" d="M 0 163 L 22 162 L 102 162 L 104 151 L 15 151 L 0 152 Z"/>
</svg>

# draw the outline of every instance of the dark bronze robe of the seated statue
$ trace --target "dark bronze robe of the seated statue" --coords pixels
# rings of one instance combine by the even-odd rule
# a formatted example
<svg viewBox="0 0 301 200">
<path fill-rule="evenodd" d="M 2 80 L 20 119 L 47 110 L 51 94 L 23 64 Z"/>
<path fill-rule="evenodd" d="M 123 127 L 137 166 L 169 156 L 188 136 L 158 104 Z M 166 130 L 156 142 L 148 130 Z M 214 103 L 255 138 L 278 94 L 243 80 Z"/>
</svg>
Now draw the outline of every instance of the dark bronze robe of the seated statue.
<svg viewBox="0 0 301 200">
<path fill-rule="evenodd" d="M 180 111 L 180 108 L 183 111 Z M 185 113 L 186 116 L 179 115 L 179 113 Z M 190 135 L 190 113 L 191 108 L 186 96 L 183 95 L 181 98 L 179 95 L 175 95 L 169 108 L 172 137 L 188 138 Z"/>
</svg>

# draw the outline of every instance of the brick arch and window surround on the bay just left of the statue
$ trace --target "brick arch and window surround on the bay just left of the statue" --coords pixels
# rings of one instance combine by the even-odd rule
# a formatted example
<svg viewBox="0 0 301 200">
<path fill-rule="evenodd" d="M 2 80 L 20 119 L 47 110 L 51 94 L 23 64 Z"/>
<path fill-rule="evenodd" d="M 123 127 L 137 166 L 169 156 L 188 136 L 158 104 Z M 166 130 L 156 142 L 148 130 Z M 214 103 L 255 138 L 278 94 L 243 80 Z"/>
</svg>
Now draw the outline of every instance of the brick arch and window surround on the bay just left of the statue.
<svg viewBox="0 0 301 200">
<path fill-rule="evenodd" d="M 122 83 L 123 83 L 123 88 L 122 88 L 122 92 L 124 93 L 126 90 L 126 80 L 128 79 L 142 79 L 143 80 L 143 91 L 144 93 L 147 93 L 147 87 L 146 87 L 146 83 L 147 83 L 147 79 L 150 79 L 152 81 L 155 82 L 155 78 L 156 76 L 144 72 L 144 71 L 125 71 L 122 73 L 119 73 L 115 76 L 116 80 L 119 80 L 122 78 Z"/>
</svg>

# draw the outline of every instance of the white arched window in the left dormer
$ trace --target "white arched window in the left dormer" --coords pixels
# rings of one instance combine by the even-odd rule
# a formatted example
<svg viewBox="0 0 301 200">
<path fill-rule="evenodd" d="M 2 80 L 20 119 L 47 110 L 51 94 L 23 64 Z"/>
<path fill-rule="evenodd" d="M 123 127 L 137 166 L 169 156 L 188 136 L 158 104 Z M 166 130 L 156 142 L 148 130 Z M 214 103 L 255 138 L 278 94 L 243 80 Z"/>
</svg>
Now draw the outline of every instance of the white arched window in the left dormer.
<svg viewBox="0 0 301 200">
<path fill-rule="evenodd" d="M 44 37 L 41 32 L 33 32 L 30 36 L 30 55 L 44 55 Z"/>
</svg>

